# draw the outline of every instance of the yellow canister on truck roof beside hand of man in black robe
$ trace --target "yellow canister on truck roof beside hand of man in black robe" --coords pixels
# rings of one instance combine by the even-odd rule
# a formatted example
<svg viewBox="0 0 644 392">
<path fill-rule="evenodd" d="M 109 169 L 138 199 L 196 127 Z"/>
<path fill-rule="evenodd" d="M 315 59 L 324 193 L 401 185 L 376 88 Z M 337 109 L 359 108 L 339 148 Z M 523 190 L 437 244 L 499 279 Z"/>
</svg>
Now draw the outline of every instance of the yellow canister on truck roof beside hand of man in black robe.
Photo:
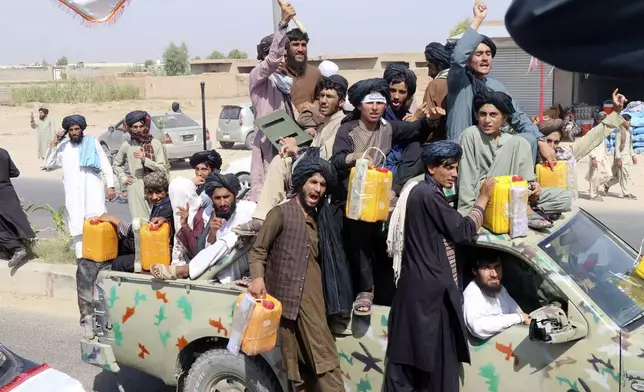
<svg viewBox="0 0 644 392">
<path fill-rule="evenodd" d="M 483 227 L 496 234 L 510 232 L 510 189 L 516 186 L 528 187 L 528 182 L 521 176 L 495 177 L 492 197 L 485 208 Z"/>
</svg>

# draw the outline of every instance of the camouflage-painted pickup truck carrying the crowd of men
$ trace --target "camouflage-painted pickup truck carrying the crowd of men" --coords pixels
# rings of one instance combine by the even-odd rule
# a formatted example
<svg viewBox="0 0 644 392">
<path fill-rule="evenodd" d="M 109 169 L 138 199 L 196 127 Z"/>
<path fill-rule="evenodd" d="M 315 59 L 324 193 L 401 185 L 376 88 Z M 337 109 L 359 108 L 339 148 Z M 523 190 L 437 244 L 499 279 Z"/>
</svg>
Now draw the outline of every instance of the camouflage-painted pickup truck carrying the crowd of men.
<svg viewBox="0 0 644 392">
<path fill-rule="evenodd" d="M 474 257 L 481 247 L 498 252 L 504 286 L 533 322 L 486 341 L 470 337 L 472 364 L 462 366 L 461 391 L 644 391 L 636 251 L 583 210 L 526 238 L 482 229 L 476 245 L 459 252 Z M 83 360 L 112 372 L 133 367 L 180 391 L 290 392 L 278 348 L 256 357 L 226 350 L 233 304 L 245 289 L 213 276 L 235 259 L 198 280 L 101 272 L 97 337 L 82 341 Z M 354 317 L 336 334 L 347 391 L 380 390 L 388 316 L 388 307 L 376 305 L 370 318 Z"/>
</svg>

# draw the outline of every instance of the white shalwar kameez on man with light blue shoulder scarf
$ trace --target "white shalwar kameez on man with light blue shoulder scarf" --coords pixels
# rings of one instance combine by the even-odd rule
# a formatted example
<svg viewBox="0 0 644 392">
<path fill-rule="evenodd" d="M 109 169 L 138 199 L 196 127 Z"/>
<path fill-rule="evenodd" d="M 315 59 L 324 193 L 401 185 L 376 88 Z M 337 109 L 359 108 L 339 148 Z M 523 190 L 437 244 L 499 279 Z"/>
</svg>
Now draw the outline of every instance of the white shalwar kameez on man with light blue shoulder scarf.
<svg viewBox="0 0 644 392">
<path fill-rule="evenodd" d="M 74 242 L 76 258 L 83 257 L 83 222 L 86 218 L 100 216 L 107 212 L 105 207 L 105 185 L 114 187 L 114 173 L 103 148 L 96 144 L 101 170 L 80 167 L 80 144 L 69 140 L 47 150 L 45 167 L 63 169 L 63 186 L 65 188 L 65 207 L 67 208 L 67 225 Z"/>
</svg>

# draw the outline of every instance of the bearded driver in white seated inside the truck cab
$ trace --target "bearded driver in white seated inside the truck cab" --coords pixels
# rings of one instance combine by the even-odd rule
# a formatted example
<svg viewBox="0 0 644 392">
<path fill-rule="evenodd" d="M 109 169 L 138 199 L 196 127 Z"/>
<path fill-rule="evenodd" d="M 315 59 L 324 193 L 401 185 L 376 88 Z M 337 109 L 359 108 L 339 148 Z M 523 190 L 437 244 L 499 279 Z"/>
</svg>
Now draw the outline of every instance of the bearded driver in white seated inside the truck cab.
<svg viewBox="0 0 644 392">
<path fill-rule="evenodd" d="M 513 325 L 529 325 L 530 317 L 501 284 L 500 257 L 478 257 L 473 264 L 474 280 L 463 292 L 463 315 L 470 333 L 479 339 L 489 339 Z"/>
</svg>

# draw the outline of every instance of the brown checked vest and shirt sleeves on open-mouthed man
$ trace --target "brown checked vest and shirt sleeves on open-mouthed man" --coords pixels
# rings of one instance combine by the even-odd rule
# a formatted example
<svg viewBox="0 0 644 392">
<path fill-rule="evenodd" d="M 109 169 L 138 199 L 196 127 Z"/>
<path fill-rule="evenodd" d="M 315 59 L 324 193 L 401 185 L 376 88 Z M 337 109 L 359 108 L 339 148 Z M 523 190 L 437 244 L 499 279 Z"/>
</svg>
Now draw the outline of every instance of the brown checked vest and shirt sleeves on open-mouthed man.
<svg viewBox="0 0 644 392">
<path fill-rule="evenodd" d="M 282 317 L 295 320 L 309 262 L 318 262 L 317 224 L 295 199 L 273 208 L 250 251 L 250 276 L 265 278 L 266 291 L 282 303 Z"/>
</svg>

